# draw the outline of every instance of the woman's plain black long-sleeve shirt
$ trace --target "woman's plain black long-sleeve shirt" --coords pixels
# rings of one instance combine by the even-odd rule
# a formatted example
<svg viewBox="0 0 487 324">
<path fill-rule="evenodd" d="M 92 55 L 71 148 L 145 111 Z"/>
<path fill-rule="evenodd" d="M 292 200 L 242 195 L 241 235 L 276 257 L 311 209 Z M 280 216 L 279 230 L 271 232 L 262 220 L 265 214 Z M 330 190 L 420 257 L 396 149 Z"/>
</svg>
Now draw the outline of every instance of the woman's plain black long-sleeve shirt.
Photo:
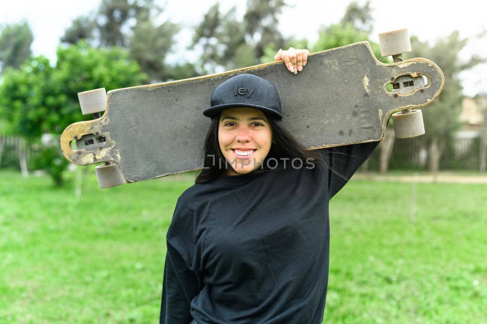
<svg viewBox="0 0 487 324">
<path fill-rule="evenodd" d="M 318 152 L 350 178 L 378 143 Z M 325 165 L 287 162 L 195 184 L 179 197 L 166 236 L 160 323 L 321 323 L 328 201 L 347 180 Z"/>
</svg>

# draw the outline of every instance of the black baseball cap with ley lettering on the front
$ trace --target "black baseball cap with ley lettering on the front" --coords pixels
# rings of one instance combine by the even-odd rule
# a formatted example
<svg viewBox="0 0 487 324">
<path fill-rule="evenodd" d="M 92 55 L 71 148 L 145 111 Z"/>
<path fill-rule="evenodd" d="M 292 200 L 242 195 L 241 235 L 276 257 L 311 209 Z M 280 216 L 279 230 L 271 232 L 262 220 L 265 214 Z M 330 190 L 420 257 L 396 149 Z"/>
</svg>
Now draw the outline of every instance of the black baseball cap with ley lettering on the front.
<svg viewBox="0 0 487 324">
<path fill-rule="evenodd" d="M 276 86 L 248 73 L 236 75 L 218 85 L 211 94 L 210 105 L 203 110 L 203 115 L 210 118 L 228 108 L 249 107 L 282 119 L 281 99 Z"/>
</svg>

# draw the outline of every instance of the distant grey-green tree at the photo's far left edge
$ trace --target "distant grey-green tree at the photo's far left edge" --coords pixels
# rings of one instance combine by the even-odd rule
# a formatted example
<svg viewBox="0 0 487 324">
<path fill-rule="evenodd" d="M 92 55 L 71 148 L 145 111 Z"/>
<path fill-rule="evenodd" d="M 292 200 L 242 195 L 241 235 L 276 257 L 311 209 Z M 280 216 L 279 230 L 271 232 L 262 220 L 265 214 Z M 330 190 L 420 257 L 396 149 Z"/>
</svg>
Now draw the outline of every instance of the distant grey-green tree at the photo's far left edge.
<svg viewBox="0 0 487 324">
<path fill-rule="evenodd" d="M 7 25 L 0 34 L 1 74 L 7 67 L 18 69 L 20 64 L 31 57 L 34 35 L 27 21 Z"/>
</svg>

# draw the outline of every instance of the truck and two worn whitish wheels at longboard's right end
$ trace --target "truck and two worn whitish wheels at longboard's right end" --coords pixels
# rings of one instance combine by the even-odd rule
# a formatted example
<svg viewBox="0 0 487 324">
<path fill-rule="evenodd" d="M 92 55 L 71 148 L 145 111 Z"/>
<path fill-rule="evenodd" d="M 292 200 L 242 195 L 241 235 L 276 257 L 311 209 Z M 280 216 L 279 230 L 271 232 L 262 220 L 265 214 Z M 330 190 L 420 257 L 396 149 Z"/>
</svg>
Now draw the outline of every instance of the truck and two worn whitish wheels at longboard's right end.
<svg viewBox="0 0 487 324">
<path fill-rule="evenodd" d="M 394 63 L 403 61 L 402 54 L 411 52 L 408 29 L 379 34 L 379 45 L 382 56 L 392 55 Z M 394 98 L 411 95 L 418 91 L 424 93 L 428 83 L 428 79 L 421 72 L 392 76 L 390 81 L 393 84 L 391 93 Z M 420 109 L 407 108 L 394 113 L 393 126 L 397 138 L 410 138 L 425 133 L 423 114 Z"/>
</svg>

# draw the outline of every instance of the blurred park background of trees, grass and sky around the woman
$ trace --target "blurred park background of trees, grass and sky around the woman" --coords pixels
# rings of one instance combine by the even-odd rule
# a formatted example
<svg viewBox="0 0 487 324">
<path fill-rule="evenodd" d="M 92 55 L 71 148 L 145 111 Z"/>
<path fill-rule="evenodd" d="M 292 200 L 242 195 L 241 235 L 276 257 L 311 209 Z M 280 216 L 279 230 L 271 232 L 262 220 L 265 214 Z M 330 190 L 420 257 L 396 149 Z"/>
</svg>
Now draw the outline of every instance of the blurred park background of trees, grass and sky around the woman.
<svg viewBox="0 0 487 324">
<path fill-rule="evenodd" d="M 155 323 L 194 173 L 100 190 L 60 152 L 77 92 L 158 83 L 409 28 L 445 74 L 426 134 L 386 139 L 332 200 L 323 323 L 486 323 L 487 29 L 474 1 L 17 0 L 0 5 L 0 323 Z"/>
</svg>

